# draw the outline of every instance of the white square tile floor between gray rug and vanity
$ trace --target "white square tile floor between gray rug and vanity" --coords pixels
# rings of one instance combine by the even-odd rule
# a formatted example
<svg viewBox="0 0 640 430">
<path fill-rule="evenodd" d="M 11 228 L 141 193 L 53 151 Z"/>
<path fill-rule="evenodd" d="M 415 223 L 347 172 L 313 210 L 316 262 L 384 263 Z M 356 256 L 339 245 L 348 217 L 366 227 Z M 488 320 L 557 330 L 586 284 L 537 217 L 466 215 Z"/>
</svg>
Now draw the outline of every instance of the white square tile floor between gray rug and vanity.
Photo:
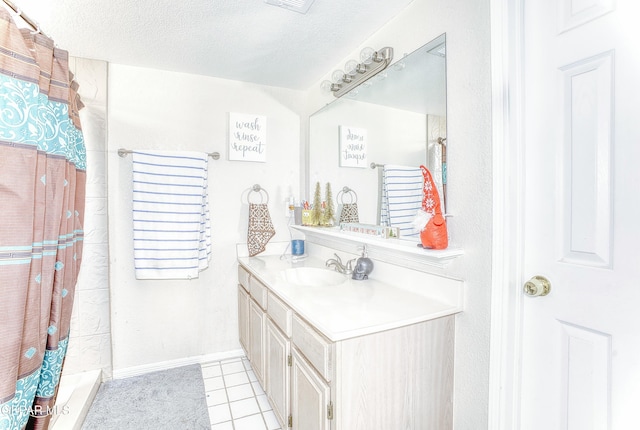
<svg viewBox="0 0 640 430">
<path fill-rule="evenodd" d="M 246 357 L 202 364 L 211 430 L 280 430 Z"/>
</svg>

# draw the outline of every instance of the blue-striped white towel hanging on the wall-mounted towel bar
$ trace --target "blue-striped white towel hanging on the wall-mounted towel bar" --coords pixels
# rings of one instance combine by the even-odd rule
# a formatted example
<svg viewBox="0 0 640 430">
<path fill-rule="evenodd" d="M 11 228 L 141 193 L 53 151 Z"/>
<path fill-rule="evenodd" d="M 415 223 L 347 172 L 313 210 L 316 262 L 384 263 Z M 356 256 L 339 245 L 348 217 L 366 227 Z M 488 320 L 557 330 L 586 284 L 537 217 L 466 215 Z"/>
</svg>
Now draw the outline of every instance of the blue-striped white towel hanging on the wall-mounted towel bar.
<svg viewBox="0 0 640 430">
<path fill-rule="evenodd" d="M 137 279 L 193 279 L 209 266 L 207 163 L 204 152 L 133 152 Z"/>
</svg>

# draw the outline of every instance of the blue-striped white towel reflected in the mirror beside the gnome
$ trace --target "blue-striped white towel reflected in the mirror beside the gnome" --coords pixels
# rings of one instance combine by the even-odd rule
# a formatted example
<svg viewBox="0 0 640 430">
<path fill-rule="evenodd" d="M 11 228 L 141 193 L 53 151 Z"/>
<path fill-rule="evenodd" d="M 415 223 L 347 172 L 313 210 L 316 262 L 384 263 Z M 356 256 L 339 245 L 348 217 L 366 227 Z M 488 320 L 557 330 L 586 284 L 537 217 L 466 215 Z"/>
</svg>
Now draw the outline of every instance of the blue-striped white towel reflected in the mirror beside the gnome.
<svg viewBox="0 0 640 430">
<path fill-rule="evenodd" d="M 424 178 L 419 167 L 382 167 L 382 190 L 380 193 L 380 223 L 398 227 L 400 237 L 420 234 L 413 225 L 413 219 L 422 208 L 422 186 Z"/>
</svg>

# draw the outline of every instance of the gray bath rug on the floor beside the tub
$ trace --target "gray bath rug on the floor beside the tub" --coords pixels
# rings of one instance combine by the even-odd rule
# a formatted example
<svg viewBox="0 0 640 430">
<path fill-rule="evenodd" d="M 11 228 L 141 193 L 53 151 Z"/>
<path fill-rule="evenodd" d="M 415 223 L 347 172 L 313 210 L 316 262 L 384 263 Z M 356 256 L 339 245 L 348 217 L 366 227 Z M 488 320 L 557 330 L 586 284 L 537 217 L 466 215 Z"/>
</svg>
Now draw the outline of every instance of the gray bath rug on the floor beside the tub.
<svg viewBox="0 0 640 430">
<path fill-rule="evenodd" d="M 83 430 L 211 429 L 200 365 L 107 381 Z"/>
</svg>

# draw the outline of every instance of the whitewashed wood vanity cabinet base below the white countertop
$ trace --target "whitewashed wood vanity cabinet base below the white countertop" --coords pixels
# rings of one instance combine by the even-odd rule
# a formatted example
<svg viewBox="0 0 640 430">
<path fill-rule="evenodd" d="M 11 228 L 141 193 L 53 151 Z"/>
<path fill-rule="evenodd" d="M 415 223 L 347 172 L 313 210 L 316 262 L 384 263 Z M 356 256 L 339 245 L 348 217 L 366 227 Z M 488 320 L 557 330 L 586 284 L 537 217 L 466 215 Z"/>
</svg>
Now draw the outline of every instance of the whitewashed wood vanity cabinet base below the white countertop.
<svg viewBox="0 0 640 430">
<path fill-rule="evenodd" d="M 454 315 L 331 340 L 240 270 L 241 342 L 283 429 L 453 428 Z"/>
</svg>

